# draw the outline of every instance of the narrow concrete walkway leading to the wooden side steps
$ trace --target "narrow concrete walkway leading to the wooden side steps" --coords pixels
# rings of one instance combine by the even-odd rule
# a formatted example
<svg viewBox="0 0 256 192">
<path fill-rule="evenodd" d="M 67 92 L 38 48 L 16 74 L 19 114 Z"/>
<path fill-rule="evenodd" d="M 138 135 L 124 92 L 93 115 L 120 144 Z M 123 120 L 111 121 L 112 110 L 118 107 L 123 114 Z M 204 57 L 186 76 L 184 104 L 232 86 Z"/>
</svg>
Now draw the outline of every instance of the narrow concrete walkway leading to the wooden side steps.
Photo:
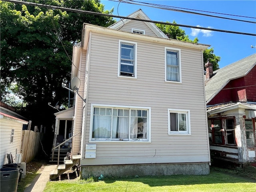
<svg viewBox="0 0 256 192">
<path fill-rule="evenodd" d="M 57 165 L 46 165 L 42 172 L 40 172 L 31 184 L 25 188 L 24 192 L 42 192 L 46 186 L 46 183 L 50 180 L 50 172 L 54 170 Z"/>
</svg>

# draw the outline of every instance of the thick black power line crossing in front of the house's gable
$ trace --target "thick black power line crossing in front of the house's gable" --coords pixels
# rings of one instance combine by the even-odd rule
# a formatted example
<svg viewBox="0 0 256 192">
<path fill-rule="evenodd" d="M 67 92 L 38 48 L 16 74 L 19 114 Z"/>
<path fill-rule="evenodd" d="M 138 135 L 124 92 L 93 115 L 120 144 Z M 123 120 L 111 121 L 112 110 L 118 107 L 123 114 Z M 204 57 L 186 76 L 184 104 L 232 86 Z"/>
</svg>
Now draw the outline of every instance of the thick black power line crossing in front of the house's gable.
<svg viewBox="0 0 256 192">
<path fill-rule="evenodd" d="M 142 22 L 158 23 L 158 24 L 165 24 L 165 25 L 172 25 L 172 26 L 180 26 L 180 27 L 186 27 L 186 28 L 195 28 L 195 29 L 202 29 L 202 30 L 209 30 L 209 31 L 217 31 L 217 32 L 225 32 L 225 33 L 232 33 L 232 34 L 242 34 L 242 35 L 256 36 L 256 34 L 253 34 L 253 33 L 244 33 L 244 32 L 236 32 L 236 31 L 229 31 L 229 30 L 205 28 L 205 27 L 200 27 L 200 26 L 190 26 L 190 25 L 183 25 L 183 24 L 176 24 L 176 23 L 154 21 L 154 20 L 137 19 L 137 18 L 130 18 L 130 17 L 125 17 L 125 16 L 109 15 L 109 14 L 104 14 L 104 13 L 97 13 L 97 12 L 91 12 L 91 11 L 85 11 L 85 10 L 65 8 L 65 7 L 59 7 L 59 6 L 44 5 L 44 4 L 38 4 L 38 3 L 32 3 L 32 2 L 24 2 L 24 1 L 19 1 L 19 0 L 3 0 L 3 1 L 12 2 L 12 3 L 16 3 L 16 4 L 25 4 L 25 5 L 29 5 L 29 6 L 38 6 L 38 7 L 44 7 L 44 8 L 60 9 L 60 10 L 76 12 L 76 13 L 85 13 L 85 14 L 91 14 L 91 15 L 96 15 L 96 16 L 107 16 L 107 17 L 123 18 L 123 19 L 136 20 L 136 21 L 142 21 Z"/>
</svg>

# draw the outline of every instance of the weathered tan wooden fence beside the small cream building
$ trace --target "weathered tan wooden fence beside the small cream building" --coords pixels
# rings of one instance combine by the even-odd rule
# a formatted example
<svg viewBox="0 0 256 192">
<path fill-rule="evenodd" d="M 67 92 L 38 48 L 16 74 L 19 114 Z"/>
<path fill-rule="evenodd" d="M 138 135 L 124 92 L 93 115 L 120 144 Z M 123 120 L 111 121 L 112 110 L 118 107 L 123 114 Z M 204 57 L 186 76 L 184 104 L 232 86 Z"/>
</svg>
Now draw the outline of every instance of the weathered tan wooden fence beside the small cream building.
<svg viewBox="0 0 256 192">
<path fill-rule="evenodd" d="M 22 162 L 30 162 L 42 149 L 41 142 L 44 133 L 34 132 L 32 130 L 23 130 L 21 139 Z M 40 142 L 41 140 L 41 142 Z"/>
</svg>

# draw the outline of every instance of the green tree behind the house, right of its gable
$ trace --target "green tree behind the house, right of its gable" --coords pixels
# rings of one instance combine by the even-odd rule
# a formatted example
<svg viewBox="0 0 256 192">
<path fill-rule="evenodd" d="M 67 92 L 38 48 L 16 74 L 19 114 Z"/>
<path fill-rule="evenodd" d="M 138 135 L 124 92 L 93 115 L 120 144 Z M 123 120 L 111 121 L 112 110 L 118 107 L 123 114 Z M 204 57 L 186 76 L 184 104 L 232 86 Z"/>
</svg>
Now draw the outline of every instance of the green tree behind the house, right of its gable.
<svg viewBox="0 0 256 192">
<path fill-rule="evenodd" d="M 168 21 L 167 21 L 168 22 Z M 168 22 L 170 23 L 170 22 Z M 172 23 L 176 24 L 175 21 Z M 191 40 L 188 35 L 186 35 L 185 31 L 182 30 L 179 26 L 166 25 L 166 24 L 156 24 L 164 34 L 166 34 L 171 39 L 177 39 L 186 42 L 198 43 L 199 39 L 196 37 L 194 40 Z M 214 48 L 206 49 L 203 52 L 204 55 L 204 63 L 207 63 L 208 59 L 213 64 L 213 70 L 219 69 L 218 62 L 220 61 L 220 56 L 216 56 L 214 54 Z"/>
</svg>

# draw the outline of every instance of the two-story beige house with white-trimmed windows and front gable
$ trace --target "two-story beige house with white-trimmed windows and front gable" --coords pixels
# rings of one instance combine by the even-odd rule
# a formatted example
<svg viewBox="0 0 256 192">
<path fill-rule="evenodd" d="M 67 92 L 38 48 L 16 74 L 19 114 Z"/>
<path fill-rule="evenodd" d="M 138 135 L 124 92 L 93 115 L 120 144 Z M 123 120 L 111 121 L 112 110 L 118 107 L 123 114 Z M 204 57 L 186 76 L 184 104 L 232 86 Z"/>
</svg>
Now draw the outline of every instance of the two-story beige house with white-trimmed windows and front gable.
<svg viewBox="0 0 256 192">
<path fill-rule="evenodd" d="M 142 10 L 128 17 L 150 20 Z M 203 50 L 155 24 L 84 24 L 74 46 L 72 154 L 81 176 L 208 174 Z"/>
</svg>

